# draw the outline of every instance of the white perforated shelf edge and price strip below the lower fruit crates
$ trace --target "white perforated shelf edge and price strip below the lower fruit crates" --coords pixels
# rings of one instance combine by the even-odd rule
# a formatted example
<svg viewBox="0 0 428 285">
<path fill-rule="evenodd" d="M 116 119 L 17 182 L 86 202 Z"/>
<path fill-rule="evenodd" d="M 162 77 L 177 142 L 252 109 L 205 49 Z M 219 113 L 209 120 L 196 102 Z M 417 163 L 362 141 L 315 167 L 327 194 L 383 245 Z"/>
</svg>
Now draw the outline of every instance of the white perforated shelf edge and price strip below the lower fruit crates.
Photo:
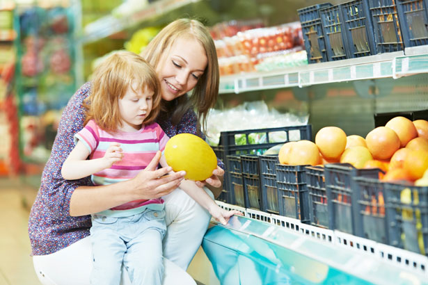
<svg viewBox="0 0 428 285">
<path fill-rule="evenodd" d="M 322 261 L 334 268 L 342 268 L 344 272 L 353 274 L 356 268 L 335 262 L 336 257 L 340 259 L 343 257 L 342 254 L 349 254 L 350 257 L 347 260 L 363 261 L 361 263 L 363 265 L 358 266 L 358 275 L 362 275 L 363 279 L 369 277 L 368 280 L 370 280 L 371 277 L 377 275 L 387 278 L 380 283 L 378 283 L 379 281 L 374 282 L 374 279 L 370 280 L 374 284 L 397 284 L 397 280 L 394 280 L 397 276 L 413 280 L 413 282 L 417 281 L 416 283 L 404 282 L 402 284 L 424 284 L 427 282 L 428 257 L 422 254 L 416 254 L 390 245 L 383 245 L 340 231 L 306 225 L 299 220 L 280 215 L 254 209 L 244 209 L 219 201 L 216 201 L 216 203 L 223 209 L 234 209 L 244 214 L 242 218 L 236 217 L 239 222 L 231 220 L 224 227 L 290 248 L 314 260 Z M 212 222 L 216 223 L 214 220 Z M 217 223 L 217 225 L 219 224 Z M 223 227 L 222 225 L 219 226 Z M 294 241 L 290 245 L 292 236 L 292 239 L 298 238 L 299 241 Z M 312 247 L 309 246 L 309 243 L 316 243 L 316 245 Z M 322 250 L 322 247 L 328 247 L 328 249 Z M 319 252 L 313 252 L 311 249 L 314 248 L 319 249 Z M 364 266 L 364 263 L 367 263 L 365 264 L 366 266 Z M 353 262 L 353 264 L 360 263 Z M 378 272 L 370 270 L 378 270 Z M 389 275 L 385 274 L 386 272 L 389 272 Z"/>
</svg>

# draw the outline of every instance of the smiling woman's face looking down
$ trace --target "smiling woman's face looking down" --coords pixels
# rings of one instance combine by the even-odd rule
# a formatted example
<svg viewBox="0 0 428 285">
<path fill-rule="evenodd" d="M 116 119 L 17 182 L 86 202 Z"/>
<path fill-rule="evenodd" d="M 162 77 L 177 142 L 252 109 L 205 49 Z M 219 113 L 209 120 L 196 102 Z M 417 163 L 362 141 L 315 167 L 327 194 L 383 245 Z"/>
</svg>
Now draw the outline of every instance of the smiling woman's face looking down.
<svg viewBox="0 0 428 285">
<path fill-rule="evenodd" d="M 160 62 L 162 99 L 172 101 L 192 90 L 207 67 L 205 49 L 194 38 L 179 38 Z"/>
</svg>

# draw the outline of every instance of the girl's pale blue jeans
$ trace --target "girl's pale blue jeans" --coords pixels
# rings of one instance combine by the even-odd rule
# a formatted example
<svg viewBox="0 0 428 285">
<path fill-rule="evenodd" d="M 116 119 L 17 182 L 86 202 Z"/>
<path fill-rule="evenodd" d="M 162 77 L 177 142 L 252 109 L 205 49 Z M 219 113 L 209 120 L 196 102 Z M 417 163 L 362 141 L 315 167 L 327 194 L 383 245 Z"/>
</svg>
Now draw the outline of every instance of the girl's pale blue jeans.
<svg viewBox="0 0 428 285">
<path fill-rule="evenodd" d="M 90 284 L 120 284 L 120 268 L 129 272 L 132 284 L 162 284 L 162 239 L 165 211 L 146 209 L 129 217 L 93 215 L 90 238 L 93 271 Z"/>
</svg>

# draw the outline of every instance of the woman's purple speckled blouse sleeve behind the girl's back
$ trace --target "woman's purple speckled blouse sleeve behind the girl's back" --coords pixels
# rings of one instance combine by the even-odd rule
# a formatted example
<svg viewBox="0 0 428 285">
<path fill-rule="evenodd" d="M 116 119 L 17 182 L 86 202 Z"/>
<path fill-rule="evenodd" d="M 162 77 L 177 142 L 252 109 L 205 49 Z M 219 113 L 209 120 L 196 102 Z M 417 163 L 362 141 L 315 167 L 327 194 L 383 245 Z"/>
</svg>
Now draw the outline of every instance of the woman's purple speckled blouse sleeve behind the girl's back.
<svg viewBox="0 0 428 285">
<path fill-rule="evenodd" d="M 74 134 L 84 127 L 85 110 L 82 103 L 89 92 L 90 83 L 86 83 L 68 101 L 61 116 L 51 156 L 42 174 L 40 191 L 43 201 L 58 218 L 70 216 L 70 199 L 77 187 L 92 185 L 90 177 L 65 180 L 61 175 L 65 158 L 74 148 Z"/>
</svg>

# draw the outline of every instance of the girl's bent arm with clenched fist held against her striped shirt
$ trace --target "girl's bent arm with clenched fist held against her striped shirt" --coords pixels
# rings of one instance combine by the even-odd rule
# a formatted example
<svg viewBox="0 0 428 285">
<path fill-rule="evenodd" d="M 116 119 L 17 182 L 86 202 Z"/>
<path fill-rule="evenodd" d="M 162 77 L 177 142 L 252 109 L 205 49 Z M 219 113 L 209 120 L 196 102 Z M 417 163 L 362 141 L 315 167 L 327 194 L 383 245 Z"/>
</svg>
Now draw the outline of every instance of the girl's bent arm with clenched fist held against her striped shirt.
<svg viewBox="0 0 428 285">
<path fill-rule="evenodd" d="M 122 149 L 118 142 L 112 142 L 106 150 L 104 157 L 87 160 L 89 149 L 81 140 L 77 141 L 76 146 L 68 155 L 63 164 L 61 174 L 64 179 L 74 180 L 88 177 L 91 174 L 100 172 L 106 168 L 111 168 L 113 163 L 122 159 Z"/>
</svg>

